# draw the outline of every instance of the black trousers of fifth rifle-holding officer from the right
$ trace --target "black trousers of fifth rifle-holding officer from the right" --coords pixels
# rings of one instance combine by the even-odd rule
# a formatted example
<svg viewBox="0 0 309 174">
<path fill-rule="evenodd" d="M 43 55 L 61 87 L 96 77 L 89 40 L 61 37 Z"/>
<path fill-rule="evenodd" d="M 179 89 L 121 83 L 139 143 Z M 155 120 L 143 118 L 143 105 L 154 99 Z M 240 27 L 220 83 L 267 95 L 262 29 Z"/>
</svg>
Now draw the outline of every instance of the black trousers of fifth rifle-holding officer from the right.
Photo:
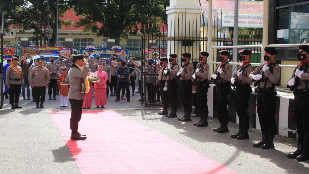
<svg viewBox="0 0 309 174">
<path fill-rule="evenodd" d="M 208 92 L 207 80 L 197 81 L 196 99 L 199 105 L 199 115 L 201 117 L 201 120 L 204 120 L 204 121 L 207 121 L 208 119 L 207 92 Z"/>
</svg>

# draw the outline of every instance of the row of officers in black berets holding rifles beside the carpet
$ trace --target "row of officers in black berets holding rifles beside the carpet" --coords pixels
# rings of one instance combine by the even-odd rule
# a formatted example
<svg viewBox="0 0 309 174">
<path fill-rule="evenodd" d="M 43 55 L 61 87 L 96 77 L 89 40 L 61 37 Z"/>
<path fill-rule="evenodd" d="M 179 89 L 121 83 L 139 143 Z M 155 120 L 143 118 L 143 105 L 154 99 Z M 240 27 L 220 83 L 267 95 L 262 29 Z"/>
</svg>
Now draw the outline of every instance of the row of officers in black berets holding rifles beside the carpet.
<svg viewBox="0 0 309 174">
<path fill-rule="evenodd" d="M 275 84 L 280 77 L 280 67 L 275 63 L 277 50 L 273 47 L 266 47 L 264 63 L 256 69 L 250 63 L 251 50 L 241 50 L 239 61 L 242 64 L 235 72 L 232 72 L 231 65 L 228 62 L 229 51 L 219 51 L 220 63 L 211 74 L 210 79 L 215 84 L 215 105 L 220 126 L 214 128 L 217 133 L 227 133 L 228 129 L 228 95 L 233 86 L 235 89 L 235 107 L 239 117 L 239 130 L 237 133 L 230 135 L 231 138 L 243 140 L 249 139 L 249 96 L 252 93 L 254 83 L 257 88 L 257 113 L 262 131 L 262 140 L 254 143 L 254 147 L 262 149 L 274 148 L 273 138 L 276 134 L 276 88 Z M 178 117 L 177 115 L 177 78 L 180 83 L 180 98 L 184 107 L 184 116 L 178 118 L 179 121 L 191 121 L 192 116 L 200 116 L 200 121 L 194 123 L 194 126 L 208 126 L 208 106 L 207 92 L 210 87 L 208 83 L 209 65 L 207 58 L 209 53 L 201 51 L 199 62 L 190 62 L 191 54 L 182 53 L 182 66 L 177 64 L 177 54 L 170 54 L 169 59 L 161 58 L 159 62 L 154 63 L 153 59 L 146 59 L 147 65 L 145 72 L 151 72 L 150 69 L 159 64 L 159 84 L 163 111 L 159 115 L 165 115 L 168 118 Z M 301 61 L 293 72 L 288 87 L 294 87 L 294 117 L 297 124 L 298 148 L 295 152 L 287 154 L 288 158 L 304 161 L 309 159 L 309 107 L 306 104 L 309 101 L 309 46 L 299 47 L 298 60 Z M 169 63 L 168 63 L 169 62 Z M 148 79 L 147 79 L 148 78 Z M 152 83 L 146 77 L 147 83 Z M 150 89 L 147 87 L 147 92 Z M 152 92 L 153 93 L 153 92 Z M 193 95 L 192 95 L 193 94 Z M 148 100 L 154 94 L 148 94 Z M 191 98 L 193 96 L 193 99 Z M 192 101 L 193 100 L 193 101 Z M 168 104 L 171 103 L 171 111 L 168 112 Z M 192 104 L 194 103 L 195 111 L 192 114 Z"/>
</svg>

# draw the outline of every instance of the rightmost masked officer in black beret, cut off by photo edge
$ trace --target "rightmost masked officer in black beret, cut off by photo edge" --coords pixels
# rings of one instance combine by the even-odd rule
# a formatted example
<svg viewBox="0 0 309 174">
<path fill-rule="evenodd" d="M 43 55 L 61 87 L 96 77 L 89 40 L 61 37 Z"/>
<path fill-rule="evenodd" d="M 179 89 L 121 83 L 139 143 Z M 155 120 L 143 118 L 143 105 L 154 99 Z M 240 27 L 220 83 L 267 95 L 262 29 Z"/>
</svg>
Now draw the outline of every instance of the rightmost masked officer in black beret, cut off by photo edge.
<svg viewBox="0 0 309 174">
<path fill-rule="evenodd" d="M 300 63 L 295 67 L 291 79 L 287 82 L 287 87 L 294 86 L 294 118 L 298 145 L 295 152 L 286 156 L 305 161 L 309 159 L 309 46 L 299 46 L 297 58 Z"/>
</svg>

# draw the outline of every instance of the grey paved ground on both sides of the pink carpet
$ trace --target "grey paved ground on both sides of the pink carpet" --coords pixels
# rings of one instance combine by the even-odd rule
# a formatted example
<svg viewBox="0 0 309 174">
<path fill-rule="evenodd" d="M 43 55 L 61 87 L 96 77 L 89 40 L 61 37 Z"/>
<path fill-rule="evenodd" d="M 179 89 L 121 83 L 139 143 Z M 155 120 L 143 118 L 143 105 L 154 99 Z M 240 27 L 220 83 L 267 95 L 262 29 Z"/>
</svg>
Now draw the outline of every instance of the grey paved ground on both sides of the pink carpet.
<svg viewBox="0 0 309 174">
<path fill-rule="evenodd" d="M 132 96 L 128 103 L 126 100 L 114 102 L 114 97 L 109 96 L 104 110 L 114 110 L 241 174 L 303 174 L 309 171 L 309 161 L 298 162 L 286 158 L 286 153 L 295 150 L 295 140 L 276 136 L 275 149 L 254 148 L 252 143 L 260 141 L 261 132 L 258 130 L 249 130 L 249 140 L 231 139 L 229 135 L 238 130 L 237 124 L 229 123 L 230 133 L 218 134 L 212 131 L 219 125 L 216 118 L 209 118 L 209 127 L 197 128 L 193 123 L 199 118 L 181 123 L 176 118 L 161 117 L 157 114 L 161 110 L 159 107 L 143 107 L 138 98 L 139 94 Z M 70 107 L 59 107 L 59 99 L 60 96 L 57 96 L 57 100 L 47 100 L 44 109 L 35 108 L 32 101 L 20 100 L 22 109 L 10 109 L 5 104 L 0 110 L 0 174 L 79 173 L 68 147 L 48 114 L 49 111 L 70 111 Z M 93 107 L 93 110 L 103 109 Z M 178 116 L 183 116 L 180 110 Z"/>
</svg>

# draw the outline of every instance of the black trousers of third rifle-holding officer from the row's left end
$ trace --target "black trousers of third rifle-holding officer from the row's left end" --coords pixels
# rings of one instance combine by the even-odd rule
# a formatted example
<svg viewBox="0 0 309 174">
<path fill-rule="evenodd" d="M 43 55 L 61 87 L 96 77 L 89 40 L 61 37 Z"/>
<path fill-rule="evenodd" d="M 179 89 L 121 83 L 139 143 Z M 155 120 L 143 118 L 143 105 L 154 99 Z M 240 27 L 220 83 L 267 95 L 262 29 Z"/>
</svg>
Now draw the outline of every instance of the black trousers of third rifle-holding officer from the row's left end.
<svg viewBox="0 0 309 174">
<path fill-rule="evenodd" d="M 191 114 L 192 112 L 192 103 L 191 103 L 191 94 L 192 94 L 192 82 L 191 80 L 181 80 L 180 81 L 180 97 L 182 105 L 184 106 L 184 113 Z"/>
</svg>

